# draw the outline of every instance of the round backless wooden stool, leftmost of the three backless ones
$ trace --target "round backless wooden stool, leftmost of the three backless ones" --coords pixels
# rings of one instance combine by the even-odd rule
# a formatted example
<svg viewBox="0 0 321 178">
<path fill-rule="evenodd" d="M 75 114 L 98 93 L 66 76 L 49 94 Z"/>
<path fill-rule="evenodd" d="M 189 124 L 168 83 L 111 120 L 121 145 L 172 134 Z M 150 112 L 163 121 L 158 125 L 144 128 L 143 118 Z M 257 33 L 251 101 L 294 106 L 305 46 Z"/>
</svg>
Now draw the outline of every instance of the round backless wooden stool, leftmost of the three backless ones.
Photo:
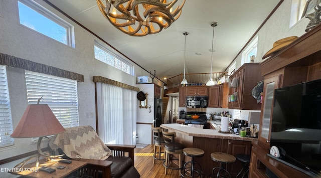
<svg viewBox="0 0 321 178">
<path fill-rule="evenodd" d="M 181 177 L 204 177 L 201 164 L 194 161 L 194 157 L 202 157 L 205 152 L 199 148 L 188 147 L 183 149 L 183 153 L 186 156 L 192 157 L 192 160 L 184 164 L 183 170 L 181 170 Z M 187 167 L 189 164 L 190 167 Z M 195 164 L 198 165 L 199 168 L 195 168 Z"/>
</svg>

